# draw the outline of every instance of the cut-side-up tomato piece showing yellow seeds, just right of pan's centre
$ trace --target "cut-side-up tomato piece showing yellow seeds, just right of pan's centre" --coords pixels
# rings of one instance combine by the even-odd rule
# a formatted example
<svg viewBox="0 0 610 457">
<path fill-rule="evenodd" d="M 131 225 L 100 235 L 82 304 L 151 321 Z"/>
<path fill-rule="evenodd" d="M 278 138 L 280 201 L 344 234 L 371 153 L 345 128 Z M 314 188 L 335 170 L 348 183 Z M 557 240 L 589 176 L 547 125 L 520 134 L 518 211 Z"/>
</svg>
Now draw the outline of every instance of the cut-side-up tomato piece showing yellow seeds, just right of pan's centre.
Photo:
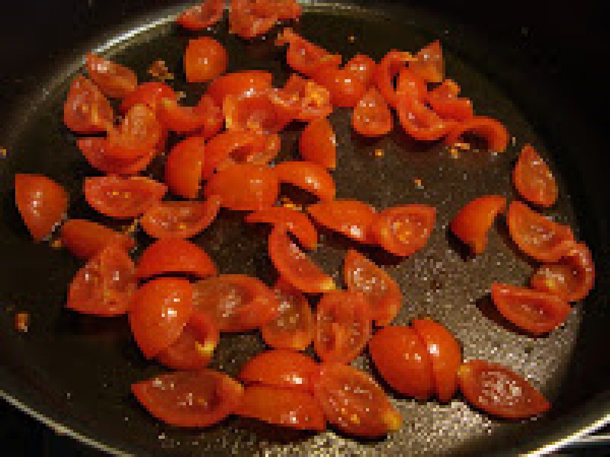
<svg viewBox="0 0 610 457">
<path fill-rule="evenodd" d="M 436 208 L 427 205 L 387 208 L 373 223 L 373 233 L 385 250 L 407 257 L 426 246 L 435 221 Z"/>
</svg>

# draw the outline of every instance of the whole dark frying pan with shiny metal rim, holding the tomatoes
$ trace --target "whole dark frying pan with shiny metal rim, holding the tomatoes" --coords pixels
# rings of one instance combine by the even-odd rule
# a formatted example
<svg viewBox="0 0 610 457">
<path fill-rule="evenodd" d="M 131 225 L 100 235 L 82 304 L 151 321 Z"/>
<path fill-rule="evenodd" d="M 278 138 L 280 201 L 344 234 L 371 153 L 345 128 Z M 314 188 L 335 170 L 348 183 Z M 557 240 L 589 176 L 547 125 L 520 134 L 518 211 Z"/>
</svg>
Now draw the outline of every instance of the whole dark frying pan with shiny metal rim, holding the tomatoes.
<svg viewBox="0 0 610 457">
<path fill-rule="evenodd" d="M 456 159 L 437 144 L 409 140 L 399 128 L 386 138 L 364 141 L 351 132 L 347 112 L 331 116 L 339 140 L 339 197 L 361 199 L 379 209 L 412 202 L 438 208 L 436 230 L 422 252 L 397 261 L 377 250 L 365 251 L 400 283 L 405 304 L 397 323 L 434 317 L 462 342 L 466 358 L 507 364 L 542 389 L 553 400 L 550 413 L 538 420 L 505 422 L 469 408 L 460 397 L 439 405 L 390 391 L 404 414 L 403 430 L 380 441 L 357 441 L 334 431 L 312 436 L 238 418 L 207 430 L 176 430 L 137 405 L 129 384 L 163 369 L 138 353 L 126 319 L 92 318 L 63 309 L 66 285 L 80 263 L 64 250 L 30 241 L 15 210 L 12 186 L 15 172 L 49 175 L 70 190 L 70 217 L 117 227 L 82 199 L 82 179 L 96 172 L 62 126 L 62 103 L 71 77 L 81 69 L 82 55 L 91 49 L 131 66 L 143 79 L 149 63 L 162 58 L 176 73 L 176 86 L 182 87 L 180 59 L 190 35 L 170 19 L 183 5 L 150 0 L 3 7 L 0 146 L 7 153 L 0 158 L 2 397 L 88 445 L 136 455 L 542 453 L 603 425 L 610 419 L 610 358 L 605 353 L 608 158 L 601 141 L 602 118 L 595 116 L 600 101 L 594 88 L 601 76 L 583 65 L 602 49 L 594 39 L 601 32 L 592 19 L 594 5 L 578 12 L 566 5 L 553 2 L 551 10 L 545 2 L 511 2 L 497 12 L 482 2 L 428 4 L 429 9 L 404 3 L 316 2 L 306 5 L 296 25 L 307 38 L 346 57 L 366 52 L 379 58 L 391 48 L 415 50 L 440 38 L 448 74 L 461 83 L 479 113 L 505 122 L 515 136 L 504 154 L 474 151 Z M 226 24 L 212 35 L 228 47 L 229 69 L 268 69 L 276 83 L 285 79 L 283 53 L 272 40 L 244 43 L 227 34 Z M 188 96 L 195 99 L 204 89 L 191 85 Z M 296 128 L 284 134 L 282 159 L 296 157 L 296 138 Z M 447 231 L 451 214 L 476 196 L 516 197 L 509 173 L 525 142 L 540 151 L 559 179 L 558 205 L 545 213 L 572 225 L 590 246 L 598 278 L 565 325 L 544 338 L 523 335 L 493 313 L 490 283 L 524 283 L 535 267 L 515 249 L 505 222 L 498 221 L 489 249 L 478 258 L 465 255 Z M 375 155 L 377 149 L 384 150 L 382 157 Z M 160 169 L 162 159 L 147 173 L 157 176 Z M 416 179 L 422 186 L 414 185 Z M 273 281 L 267 229 L 246 228 L 241 220 L 239 214 L 224 211 L 196 242 L 221 272 Z M 137 236 L 136 256 L 150 242 L 141 233 Z M 325 231 L 321 241 L 323 247 L 313 256 L 328 272 L 340 271 L 345 250 L 357 247 Z M 15 330 L 16 312 L 30 314 L 27 333 Z M 224 337 L 212 366 L 234 375 L 263 347 L 255 333 Z M 372 370 L 367 355 L 356 365 Z"/>
</svg>

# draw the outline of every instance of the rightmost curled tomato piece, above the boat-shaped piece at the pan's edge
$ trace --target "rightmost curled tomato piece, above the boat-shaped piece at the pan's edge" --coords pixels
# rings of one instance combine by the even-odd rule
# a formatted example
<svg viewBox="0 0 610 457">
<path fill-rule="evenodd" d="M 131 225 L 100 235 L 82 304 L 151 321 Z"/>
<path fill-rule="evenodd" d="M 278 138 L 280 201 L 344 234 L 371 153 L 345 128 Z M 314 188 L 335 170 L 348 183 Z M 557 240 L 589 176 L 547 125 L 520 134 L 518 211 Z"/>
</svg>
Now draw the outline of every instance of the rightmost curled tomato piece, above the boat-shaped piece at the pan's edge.
<svg viewBox="0 0 610 457">
<path fill-rule="evenodd" d="M 576 302 L 589 294 L 594 282 L 595 266 L 587 245 L 565 243 L 561 258 L 556 263 L 540 266 L 529 285 Z"/>
</svg>

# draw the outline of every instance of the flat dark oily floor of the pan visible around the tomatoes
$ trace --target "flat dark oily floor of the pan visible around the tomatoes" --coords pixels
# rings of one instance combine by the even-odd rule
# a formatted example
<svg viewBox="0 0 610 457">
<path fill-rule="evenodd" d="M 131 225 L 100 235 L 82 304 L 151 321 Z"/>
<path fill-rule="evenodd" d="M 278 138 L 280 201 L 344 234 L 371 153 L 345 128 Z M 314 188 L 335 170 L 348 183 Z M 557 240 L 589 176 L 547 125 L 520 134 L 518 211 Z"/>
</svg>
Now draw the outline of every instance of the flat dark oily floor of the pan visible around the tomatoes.
<svg viewBox="0 0 610 457">
<path fill-rule="evenodd" d="M 439 36 L 439 30 L 427 31 L 420 26 L 417 21 L 393 21 L 357 10 L 317 7 L 307 11 L 295 28 L 306 38 L 344 57 L 364 52 L 378 60 L 389 49 L 415 51 Z M 224 23 L 210 35 L 228 48 L 229 71 L 268 69 L 276 84 L 287 78 L 285 51 L 275 48 L 273 39 L 245 43 L 229 35 Z M 160 24 L 129 39 L 118 40 L 106 54 L 134 68 L 141 80 L 151 79 L 146 68 L 161 58 L 176 76 L 170 83 L 185 90 L 187 102 L 193 102 L 203 93 L 205 85 L 187 87 L 184 83 L 181 56 L 189 37 L 171 24 Z M 322 246 L 313 257 L 340 281 L 346 249 L 357 247 L 384 264 L 400 284 L 405 303 L 396 324 L 432 316 L 462 343 L 465 358 L 506 364 L 555 399 L 561 394 L 562 380 L 572 364 L 583 317 L 582 305 L 574 306 L 564 327 L 545 338 L 531 338 L 515 331 L 493 312 L 489 287 L 492 282 L 521 285 L 535 266 L 512 244 L 503 218 L 490 232 L 487 251 L 477 258 L 465 255 L 448 233 L 448 222 L 475 197 L 484 194 L 499 194 L 509 200 L 517 197 L 511 185 L 511 171 L 520 147 L 526 142 L 538 149 L 558 175 L 559 202 L 545 214 L 570 224 L 578 237 L 579 224 L 570 190 L 553 155 L 517 106 L 484 73 L 452 53 L 450 34 L 443 35 L 442 40 L 447 44 L 444 53 L 447 75 L 472 98 L 479 114 L 503 121 L 516 143 L 513 141 L 501 155 L 464 151 L 453 157 L 438 144 L 412 141 L 398 124 L 389 136 L 364 141 L 353 133 L 348 110 L 336 110 L 331 123 L 339 144 L 334 173 L 337 197 L 360 199 L 379 210 L 398 204 L 433 205 L 438 218 L 425 249 L 403 261 L 388 258 L 380 250 L 362 250 L 361 246 L 323 230 Z M 3 255 L 0 360 L 21 380 L 12 388 L 20 392 L 22 401 L 34 409 L 52 411 L 68 427 L 116 450 L 143 454 L 163 451 L 185 456 L 472 455 L 510 450 L 515 442 L 522 441 L 524 434 L 535 433 L 548 421 L 548 417 L 523 423 L 497 421 L 466 406 L 459 397 L 448 405 L 439 405 L 418 403 L 395 392 L 390 394 L 403 413 L 404 427 L 382 441 L 356 441 L 332 431 L 313 436 L 238 418 L 209 430 L 176 430 L 152 419 L 132 399 L 129 385 L 163 369 L 143 359 L 124 317 L 88 317 L 63 308 L 66 285 L 81 262 L 65 250 L 32 243 L 14 209 L 13 174 L 41 173 L 70 190 L 71 218 L 121 227 L 116 221 L 96 214 L 82 197 L 82 180 L 98 173 L 85 163 L 74 137 L 61 121 L 71 77 L 48 91 L 23 129 L 15 130 L 12 144 L 2 145 L 7 147 L 8 155 L 0 159 Z M 296 140 L 301 127 L 291 127 L 282 135 L 282 160 L 298 157 Z M 160 171 L 162 159 L 146 173 L 160 177 Z M 290 189 L 286 193 L 295 199 L 303 197 Z M 246 226 L 240 214 L 223 211 L 195 241 L 217 262 L 220 272 L 255 275 L 271 284 L 275 272 L 267 257 L 267 235 L 267 228 Z M 142 252 L 150 239 L 142 233 L 137 236 L 138 252 Z M 15 331 L 16 312 L 30 313 L 27 333 Z M 256 333 L 223 336 L 212 367 L 235 375 L 246 360 L 263 349 Z M 355 364 L 370 370 L 367 355 L 361 355 Z M 551 412 L 550 416 L 554 414 L 557 413 Z"/>
</svg>

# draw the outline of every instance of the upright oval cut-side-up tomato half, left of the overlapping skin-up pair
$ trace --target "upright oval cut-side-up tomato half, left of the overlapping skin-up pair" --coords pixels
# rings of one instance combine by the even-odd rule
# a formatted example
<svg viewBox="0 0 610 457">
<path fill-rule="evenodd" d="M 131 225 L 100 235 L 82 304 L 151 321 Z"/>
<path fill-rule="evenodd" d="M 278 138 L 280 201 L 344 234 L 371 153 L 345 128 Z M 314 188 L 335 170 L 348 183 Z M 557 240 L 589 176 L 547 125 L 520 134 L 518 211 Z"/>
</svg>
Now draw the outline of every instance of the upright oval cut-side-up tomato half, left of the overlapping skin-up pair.
<svg viewBox="0 0 610 457">
<path fill-rule="evenodd" d="M 364 294 L 328 292 L 318 302 L 315 313 L 315 353 L 325 362 L 349 363 L 367 345 L 372 327 Z"/>
</svg>

